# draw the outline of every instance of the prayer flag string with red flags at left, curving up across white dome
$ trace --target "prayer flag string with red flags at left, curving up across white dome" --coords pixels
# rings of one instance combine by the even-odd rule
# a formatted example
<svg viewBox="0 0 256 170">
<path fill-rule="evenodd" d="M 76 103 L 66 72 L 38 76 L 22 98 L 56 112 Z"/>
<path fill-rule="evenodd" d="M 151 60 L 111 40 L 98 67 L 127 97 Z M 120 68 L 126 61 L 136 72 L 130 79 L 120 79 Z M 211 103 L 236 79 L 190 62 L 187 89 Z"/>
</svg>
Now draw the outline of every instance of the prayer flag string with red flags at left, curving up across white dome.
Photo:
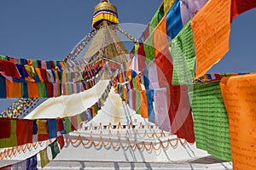
<svg viewBox="0 0 256 170">
<path fill-rule="evenodd" d="M 0 118 L 0 130 L 2 127 L 3 132 L 0 134 L 0 148 L 55 139 L 58 135 L 80 129 L 83 122 L 89 122 L 93 116 L 96 116 L 103 105 L 102 101 L 106 101 L 111 87 L 110 81 L 100 99 L 91 108 L 75 116 L 38 120 Z"/>
</svg>

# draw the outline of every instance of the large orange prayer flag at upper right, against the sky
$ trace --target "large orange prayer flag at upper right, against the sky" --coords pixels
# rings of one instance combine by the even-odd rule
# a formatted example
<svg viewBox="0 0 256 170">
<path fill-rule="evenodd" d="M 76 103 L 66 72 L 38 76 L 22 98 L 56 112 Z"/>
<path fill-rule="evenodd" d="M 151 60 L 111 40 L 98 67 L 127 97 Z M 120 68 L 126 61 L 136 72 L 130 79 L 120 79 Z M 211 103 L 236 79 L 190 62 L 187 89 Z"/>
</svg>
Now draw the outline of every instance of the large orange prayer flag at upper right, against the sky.
<svg viewBox="0 0 256 170">
<path fill-rule="evenodd" d="M 211 0 L 192 19 L 195 78 L 202 77 L 229 51 L 230 4 L 230 0 Z"/>
</svg>

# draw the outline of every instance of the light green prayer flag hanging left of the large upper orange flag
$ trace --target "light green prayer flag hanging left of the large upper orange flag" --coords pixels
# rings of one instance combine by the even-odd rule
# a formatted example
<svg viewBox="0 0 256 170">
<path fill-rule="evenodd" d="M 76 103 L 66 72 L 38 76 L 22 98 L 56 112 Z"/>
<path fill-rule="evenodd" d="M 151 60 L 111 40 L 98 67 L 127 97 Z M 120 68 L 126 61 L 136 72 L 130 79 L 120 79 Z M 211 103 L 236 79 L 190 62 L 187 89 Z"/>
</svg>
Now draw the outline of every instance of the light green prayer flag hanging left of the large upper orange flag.
<svg viewBox="0 0 256 170">
<path fill-rule="evenodd" d="M 188 84 L 195 77 L 195 45 L 191 21 L 170 42 L 172 85 Z"/>
</svg>

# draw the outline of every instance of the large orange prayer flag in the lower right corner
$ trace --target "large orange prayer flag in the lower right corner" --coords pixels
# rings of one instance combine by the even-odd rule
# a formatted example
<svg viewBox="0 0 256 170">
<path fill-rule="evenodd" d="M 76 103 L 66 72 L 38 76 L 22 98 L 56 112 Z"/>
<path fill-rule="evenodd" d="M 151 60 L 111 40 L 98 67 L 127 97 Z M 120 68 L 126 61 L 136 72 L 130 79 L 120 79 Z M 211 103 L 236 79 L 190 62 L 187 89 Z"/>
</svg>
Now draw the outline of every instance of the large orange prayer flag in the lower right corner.
<svg viewBox="0 0 256 170">
<path fill-rule="evenodd" d="M 256 169 L 256 74 L 224 77 L 221 91 L 230 123 L 234 169 Z"/>
</svg>

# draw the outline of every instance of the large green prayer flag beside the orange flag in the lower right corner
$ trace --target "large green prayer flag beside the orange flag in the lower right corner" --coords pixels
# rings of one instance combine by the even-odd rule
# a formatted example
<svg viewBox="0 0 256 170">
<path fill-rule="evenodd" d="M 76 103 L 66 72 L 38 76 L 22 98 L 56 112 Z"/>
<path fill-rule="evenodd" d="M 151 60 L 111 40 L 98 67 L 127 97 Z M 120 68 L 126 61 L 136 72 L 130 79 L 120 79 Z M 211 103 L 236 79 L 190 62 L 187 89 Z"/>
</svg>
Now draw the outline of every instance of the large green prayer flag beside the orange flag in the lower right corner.
<svg viewBox="0 0 256 170">
<path fill-rule="evenodd" d="M 195 122 L 196 147 L 231 161 L 229 119 L 219 82 L 194 84 L 189 94 Z"/>
</svg>

